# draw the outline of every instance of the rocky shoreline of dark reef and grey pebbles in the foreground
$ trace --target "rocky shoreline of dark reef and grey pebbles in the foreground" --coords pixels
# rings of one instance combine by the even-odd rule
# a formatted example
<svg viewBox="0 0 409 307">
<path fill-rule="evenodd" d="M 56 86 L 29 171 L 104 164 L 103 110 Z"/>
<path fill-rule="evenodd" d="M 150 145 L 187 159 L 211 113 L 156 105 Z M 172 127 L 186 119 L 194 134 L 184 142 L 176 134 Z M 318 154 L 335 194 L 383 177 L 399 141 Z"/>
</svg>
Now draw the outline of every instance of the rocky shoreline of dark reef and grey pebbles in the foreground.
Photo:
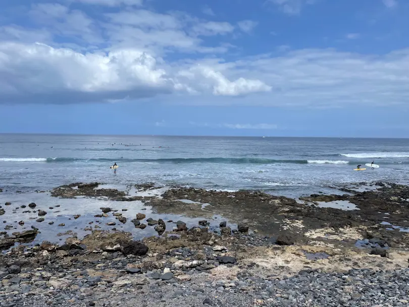
<svg viewBox="0 0 409 307">
<path fill-rule="evenodd" d="M 11 228 L 0 238 L 0 306 L 409 306 L 407 186 L 377 183 L 373 190 L 299 200 L 185 187 L 155 194 L 154 184 L 135 185 L 140 194 L 98 186 L 75 183 L 50 195 L 140 201 L 158 217 L 200 219 L 188 227 L 182 219 L 143 212 L 131 219 L 128 209 L 101 207 L 91 221 L 72 217 L 88 228 L 82 238 L 47 218 L 59 205 L 2 204 L 0 215 L 30 211 L 36 224 L 4 223 Z M 320 207 L 334 201 L 356 209 Z M 129 223 L 157 235 L 135 240 L 120 230 Z M 37 242 L 42 225 L 64 228 L 64 243 Z"/>
</svg>

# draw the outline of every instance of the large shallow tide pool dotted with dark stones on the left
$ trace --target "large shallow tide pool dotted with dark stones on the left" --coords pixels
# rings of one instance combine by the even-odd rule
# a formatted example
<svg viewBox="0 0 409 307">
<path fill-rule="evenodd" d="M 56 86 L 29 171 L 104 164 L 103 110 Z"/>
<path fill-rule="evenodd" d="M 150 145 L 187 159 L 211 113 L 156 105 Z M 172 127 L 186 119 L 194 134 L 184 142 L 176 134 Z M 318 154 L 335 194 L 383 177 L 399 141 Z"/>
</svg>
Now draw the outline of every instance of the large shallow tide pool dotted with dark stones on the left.
<svg viewBox="0 0 409 307">
<path fill-rule="evenodd" d="M 107 187 L 106 187 L 107 188 Z M 152 194 L 157 195 L 159 191 L 149 190 Z M 161 192 L 162 194 L 163 192 Z M 149 194 L 148 196 L 152 196 Z M 32 227 L 38 228 L 39 233 L 35 240 L 30 244 L 40 243 L 44 240 L 50 242 L 59 242 L 62 244 L 67 237 L 76 234 L 81 239 L 85 235 L 90 234 L 92 230 L 118 230 L 132 233 L 135 239 L 158 235 L 154 226 L 147 226 L 145 229 L 135 228 L 131 220 L 136 218 L 137 213 L 143 213 L 146 217 L 140 220 L 140 223 L 147 225 L 146 219 L 152 218 L 156 221 L 162 219 L 166 224 L 166 231 L 173 230 L 176 227 L 177 221 L 186 223 L 187 228 L 199 226 L 199 221 L 203 218 L 189 218 L 183 215 L 175 214 L 158 214 L 152 207 L 145 205 L 140 200 L 134 201 L 116 201 L 101 198 L 57 198 L 52 197 L 48 192 L 45 193 L 21 193 L 8 195 L 7 199 L 0 199 L 1 206 L 5 210 L 5 214 L 0 216 L 0 226 L 2 231 L 4 228 L 8 235 L 13 232 L 22 232 L 30 230 Z M 10 206 L 4 206 L 5 202 L 11 202 Z M 35 208 L 29 208 L 29 203 L 34 202 Z M 209 204 L 200 203 L 202 208 L 206 208 Z M 22 208 L 24 207 L 25 208 Z M 107 217 L 95 217 L 103 212 L 100 208 L 111 208 L 111 212 Z M 38 216 L 38 212 L 42 210 L 46 214 L 42 217 Z M 35 212 L 34 212 L 35 211 Z M 117 216 L 125 217 L 126 223 L 121 223 Z M 37 221 L 43 218 L 42 222 Z M 237 224 L 229 223 L 227 219 L 220 215 L 213 215 L 211 218 L 206 218 L 209 231 L 220 231 L 220 223 L 227 222 L 227 226 L 232 229 L 237 229 Z M 3 223 L 2 223 L 3 222 Z M 20 222 L 20 224 L 19 224 Z M 21 222 L 24 222 L 21 223 Z M 115 225 L 107 225 L 107 223 L 115 223 Z M 49 224 L 51 223 L 51 224 Z M 62 226 L 59 226 L 62 225 Z M 166 235 L 166 233 L 164 234 Z M 176 235 L 177 234 L 168 234 Z"/>
</svg>

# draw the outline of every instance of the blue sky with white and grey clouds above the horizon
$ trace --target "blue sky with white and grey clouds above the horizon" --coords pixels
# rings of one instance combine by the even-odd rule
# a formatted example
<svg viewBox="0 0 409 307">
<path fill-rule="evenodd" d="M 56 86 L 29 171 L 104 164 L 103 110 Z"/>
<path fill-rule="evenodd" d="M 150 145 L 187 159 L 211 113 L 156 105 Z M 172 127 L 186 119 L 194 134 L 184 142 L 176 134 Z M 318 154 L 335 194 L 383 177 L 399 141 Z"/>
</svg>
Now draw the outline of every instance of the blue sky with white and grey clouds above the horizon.
<svg viewBox="0 0 409 307">
<path fill-rule="evenodd" d="M 0 132 L 408 137 L 407 0 L 0 0 Z"/>
</svg>

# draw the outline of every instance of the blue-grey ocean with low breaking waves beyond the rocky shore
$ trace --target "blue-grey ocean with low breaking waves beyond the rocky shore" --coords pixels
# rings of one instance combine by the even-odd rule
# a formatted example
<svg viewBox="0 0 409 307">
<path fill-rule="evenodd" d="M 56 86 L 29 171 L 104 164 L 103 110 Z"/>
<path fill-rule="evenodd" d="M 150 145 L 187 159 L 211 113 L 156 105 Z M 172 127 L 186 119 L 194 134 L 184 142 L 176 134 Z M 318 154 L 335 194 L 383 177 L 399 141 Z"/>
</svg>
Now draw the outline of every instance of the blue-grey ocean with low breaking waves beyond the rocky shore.
<svg viewBox="0 0 409 307">
<path fill-rule="evenodd" d="M 373 160 L 379 169 L 353 171 Z M 299 197 L 364 181 L 407 183 L 408 171 L 409 139 L 0 134 L 0 198 L 95 181 Z"/>
</svg>

